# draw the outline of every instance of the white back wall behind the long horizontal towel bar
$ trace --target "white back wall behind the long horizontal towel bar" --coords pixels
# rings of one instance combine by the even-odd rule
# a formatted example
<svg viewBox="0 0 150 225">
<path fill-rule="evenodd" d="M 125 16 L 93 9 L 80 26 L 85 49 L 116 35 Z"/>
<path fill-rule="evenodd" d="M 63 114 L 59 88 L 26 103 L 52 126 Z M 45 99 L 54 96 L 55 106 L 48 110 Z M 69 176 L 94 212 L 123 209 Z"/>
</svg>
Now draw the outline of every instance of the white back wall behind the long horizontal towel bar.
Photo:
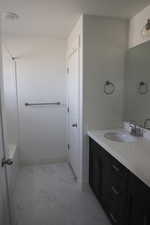
<svg viewBox="0 0 150 225">
<path fill-rule="evenodd" d="M 9 37 L 17 57 L 20 150 L 24 164 L 66 159 L 65 40 Z M 25 102 L 58 102 L 61 106 L 25 107 Z"/>
</svg>

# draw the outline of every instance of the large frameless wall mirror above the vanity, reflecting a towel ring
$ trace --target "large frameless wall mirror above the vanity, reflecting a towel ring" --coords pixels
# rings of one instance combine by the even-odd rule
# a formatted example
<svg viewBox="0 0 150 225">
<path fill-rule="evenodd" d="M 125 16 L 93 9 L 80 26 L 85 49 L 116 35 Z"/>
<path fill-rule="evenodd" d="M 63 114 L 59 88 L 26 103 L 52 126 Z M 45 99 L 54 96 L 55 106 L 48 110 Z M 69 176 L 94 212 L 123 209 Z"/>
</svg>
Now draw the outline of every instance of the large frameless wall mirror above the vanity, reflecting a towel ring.
<svg viewBox="0 0 150 225">
<path fill-rule="evenodd" d="M 150 41 L 127 52 L 124 120 L 144 126 L 150 118 Z M 146 128 L 150 128 L 147 121 Z"/>
</svg>

